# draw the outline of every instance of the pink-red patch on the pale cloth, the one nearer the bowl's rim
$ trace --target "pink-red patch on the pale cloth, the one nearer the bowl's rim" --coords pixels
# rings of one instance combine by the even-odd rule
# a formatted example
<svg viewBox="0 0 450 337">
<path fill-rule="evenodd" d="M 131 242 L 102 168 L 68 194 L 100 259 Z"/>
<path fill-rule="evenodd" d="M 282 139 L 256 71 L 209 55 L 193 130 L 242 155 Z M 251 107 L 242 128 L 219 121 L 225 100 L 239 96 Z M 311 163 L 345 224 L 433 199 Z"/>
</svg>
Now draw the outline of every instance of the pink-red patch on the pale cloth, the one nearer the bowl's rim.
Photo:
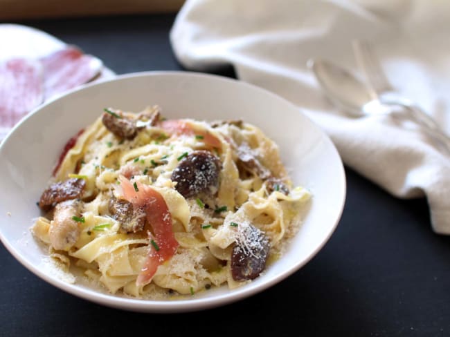
<svg viewBox="0 0 450 337">
<path fill-rule="evenodd" d="M 102 61 L 67 46 L 41 59 L 44 66 L 45 99 L 64 93 L 100 74 Z"/>
</svg>

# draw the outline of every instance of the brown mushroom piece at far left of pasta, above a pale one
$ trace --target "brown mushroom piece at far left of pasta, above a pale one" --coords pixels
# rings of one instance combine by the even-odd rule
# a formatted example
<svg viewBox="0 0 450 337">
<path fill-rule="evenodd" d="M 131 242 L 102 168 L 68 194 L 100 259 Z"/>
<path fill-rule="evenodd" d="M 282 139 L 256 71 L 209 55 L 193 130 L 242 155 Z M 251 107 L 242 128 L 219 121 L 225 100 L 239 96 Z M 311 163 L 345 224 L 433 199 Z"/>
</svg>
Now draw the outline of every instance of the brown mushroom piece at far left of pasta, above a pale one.
<svg viewBox="0 0 450 337">
<path fill-rule="evenodd" d="M 41 209 L 49 209 L 51 206 L 65 200 L 80 198 L 86 182 L 84 179 L 71 178 L 65 182 L 56 182 L 46 189 L 39 200 Z"/>
</svg>

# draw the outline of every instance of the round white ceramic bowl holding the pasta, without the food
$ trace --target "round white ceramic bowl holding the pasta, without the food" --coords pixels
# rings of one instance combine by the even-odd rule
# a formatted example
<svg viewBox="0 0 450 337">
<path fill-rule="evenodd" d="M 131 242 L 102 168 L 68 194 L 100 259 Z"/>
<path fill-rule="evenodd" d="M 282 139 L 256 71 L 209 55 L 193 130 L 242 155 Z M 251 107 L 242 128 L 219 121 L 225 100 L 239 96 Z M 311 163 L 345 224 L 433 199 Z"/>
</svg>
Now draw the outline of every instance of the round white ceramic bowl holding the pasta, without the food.
<svg viewBox="0 0 450 337">
<path fill-rule="evenodd" d="M 64 282 L 48 269 L 46 251 L 30 234 L 39 215 L 36 201 L 62 146 L 80 128 L 112 106 L 139 111 L 158 104 L 165 117 L 243 119 L 262 128 L 280 146 L 292 180 L 312 191 L 305 222 L 289 250 L 263 276 L 235 290 L 211 289 L 188 300 L 152 301 L 114 296 L 82 282 Z M 330 139 L 296 106 L 240 81 L 195 73 L 137 73 L 73 90 L 23 119 L 0 146 L 0 238 L 19 262 L 40 278 L 93 302 L 146 312 L 194 311 L 258 293 L 309 261 L 334 231 L 345 200 L 345 173 Z"/>
</svg>

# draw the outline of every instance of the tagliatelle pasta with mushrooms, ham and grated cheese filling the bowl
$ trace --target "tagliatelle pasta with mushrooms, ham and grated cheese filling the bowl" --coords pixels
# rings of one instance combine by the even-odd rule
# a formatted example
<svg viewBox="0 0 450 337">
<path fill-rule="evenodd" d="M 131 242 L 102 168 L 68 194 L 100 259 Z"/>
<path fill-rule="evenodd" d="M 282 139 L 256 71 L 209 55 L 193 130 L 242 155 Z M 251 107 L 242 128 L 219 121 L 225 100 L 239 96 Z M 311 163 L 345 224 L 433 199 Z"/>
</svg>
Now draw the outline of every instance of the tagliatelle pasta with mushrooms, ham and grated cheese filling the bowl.
<svg viewBox="0 0 450 337">
<path fill-rule="evenodd" d="M 66 144 L 32 231 L 111 293 L 192 296 L 264 273 L 309 198 L 256 126 L 107 108 Z"/>
</svg>

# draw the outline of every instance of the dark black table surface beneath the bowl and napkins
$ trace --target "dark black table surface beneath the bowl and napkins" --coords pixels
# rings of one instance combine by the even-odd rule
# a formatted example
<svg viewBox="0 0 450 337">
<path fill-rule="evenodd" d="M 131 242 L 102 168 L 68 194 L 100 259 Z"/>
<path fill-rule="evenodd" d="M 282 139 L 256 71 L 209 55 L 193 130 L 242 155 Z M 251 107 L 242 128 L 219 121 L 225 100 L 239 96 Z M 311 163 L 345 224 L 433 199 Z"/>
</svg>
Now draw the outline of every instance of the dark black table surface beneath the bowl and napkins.
<svg viewBox="0 0 450 337">
<path fill-rule="evenodd" d="M 22 23 L 80 46 L 123 74 L 182 70 L 168 38 L 173 20 Z M 220 75 L 233 77 L 233 70 Z M 393 198 L 350 168 L 345 172 L 345 209 L 325 247 L 267 291 L 207 311 L 137 314 L 102 307 L 37 278 L 0 244 L 0 336 L 450 336 L 450 238 L 431 231 L 426 200 Z"/>
</svg>

